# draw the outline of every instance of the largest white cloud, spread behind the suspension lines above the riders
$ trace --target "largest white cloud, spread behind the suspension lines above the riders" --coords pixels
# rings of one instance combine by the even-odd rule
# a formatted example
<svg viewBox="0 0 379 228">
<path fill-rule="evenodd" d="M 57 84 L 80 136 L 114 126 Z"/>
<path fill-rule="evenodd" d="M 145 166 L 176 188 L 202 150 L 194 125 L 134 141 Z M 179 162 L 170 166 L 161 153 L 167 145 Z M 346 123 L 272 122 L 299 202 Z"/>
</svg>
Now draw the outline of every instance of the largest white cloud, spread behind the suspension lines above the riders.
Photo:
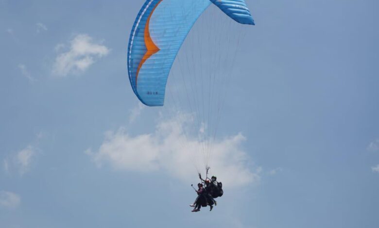
<svg viewBox="0 0 379 228">
<path fill-rule="evenodd" d="M 165 171 L 183 181 L 193 180 L 193 161 L 203 161 L 203 142 L 197 137 L 186 137 L 184 130 L 193 125 L 191 116 L 181 115 L 157 124 L 150 134 L 131 136 L 126 129 L 109 131 L 98 151 L 90 149 L 86 154 L 101 166 L 110 164 L 115 170 L 152 172 Z M 216 140 L 213 143 L 211 171 L 226 187 L 238 187 L 259 180 L 256 172 L 248 165 L 249 157 L 241 149 L 245 137 L 240 133 Z M 203 167 L 203 166 L 202 166 Z"/>
</svg>

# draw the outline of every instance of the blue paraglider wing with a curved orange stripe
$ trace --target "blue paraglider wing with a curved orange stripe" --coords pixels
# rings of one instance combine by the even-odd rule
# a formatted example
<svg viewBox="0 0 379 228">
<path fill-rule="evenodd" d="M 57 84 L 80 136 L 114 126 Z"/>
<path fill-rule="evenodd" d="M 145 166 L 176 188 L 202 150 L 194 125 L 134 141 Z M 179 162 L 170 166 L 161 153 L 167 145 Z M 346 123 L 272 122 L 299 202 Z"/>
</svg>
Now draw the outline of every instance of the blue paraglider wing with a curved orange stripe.
<svg viewBox="0 0 379 228">
<path fill-rule="evenodd" d="M 138 99 L 163 106 L 176 54 L 197 18 L 214 3 L 242 24 L 254 24 L 244 0 L 147 0 L 138 13 L 128 46 L 128 74 Z"/>
</svg>

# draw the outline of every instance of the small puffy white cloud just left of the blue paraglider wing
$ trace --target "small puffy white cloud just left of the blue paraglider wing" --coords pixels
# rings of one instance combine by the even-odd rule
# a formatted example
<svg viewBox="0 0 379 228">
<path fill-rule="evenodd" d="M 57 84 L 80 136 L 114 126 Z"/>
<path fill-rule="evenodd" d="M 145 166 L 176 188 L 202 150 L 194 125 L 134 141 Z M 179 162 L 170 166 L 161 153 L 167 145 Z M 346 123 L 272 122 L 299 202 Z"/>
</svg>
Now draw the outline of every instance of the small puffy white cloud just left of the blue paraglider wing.
<svg viewBox="0 0 379 228">
<path fill-rule="evenodd" d="M 60 51 L 64 46 L 59 44 L 55 50 Z M 96 59 L 106 56 L 109 49 L 93 42 L 92 37 L 79 34 L 70 41 L 67 52 L 58 54 L 53 65 L 53 73 L 65 77 L 70 73 L 84 72 Z"/>
</svg>

